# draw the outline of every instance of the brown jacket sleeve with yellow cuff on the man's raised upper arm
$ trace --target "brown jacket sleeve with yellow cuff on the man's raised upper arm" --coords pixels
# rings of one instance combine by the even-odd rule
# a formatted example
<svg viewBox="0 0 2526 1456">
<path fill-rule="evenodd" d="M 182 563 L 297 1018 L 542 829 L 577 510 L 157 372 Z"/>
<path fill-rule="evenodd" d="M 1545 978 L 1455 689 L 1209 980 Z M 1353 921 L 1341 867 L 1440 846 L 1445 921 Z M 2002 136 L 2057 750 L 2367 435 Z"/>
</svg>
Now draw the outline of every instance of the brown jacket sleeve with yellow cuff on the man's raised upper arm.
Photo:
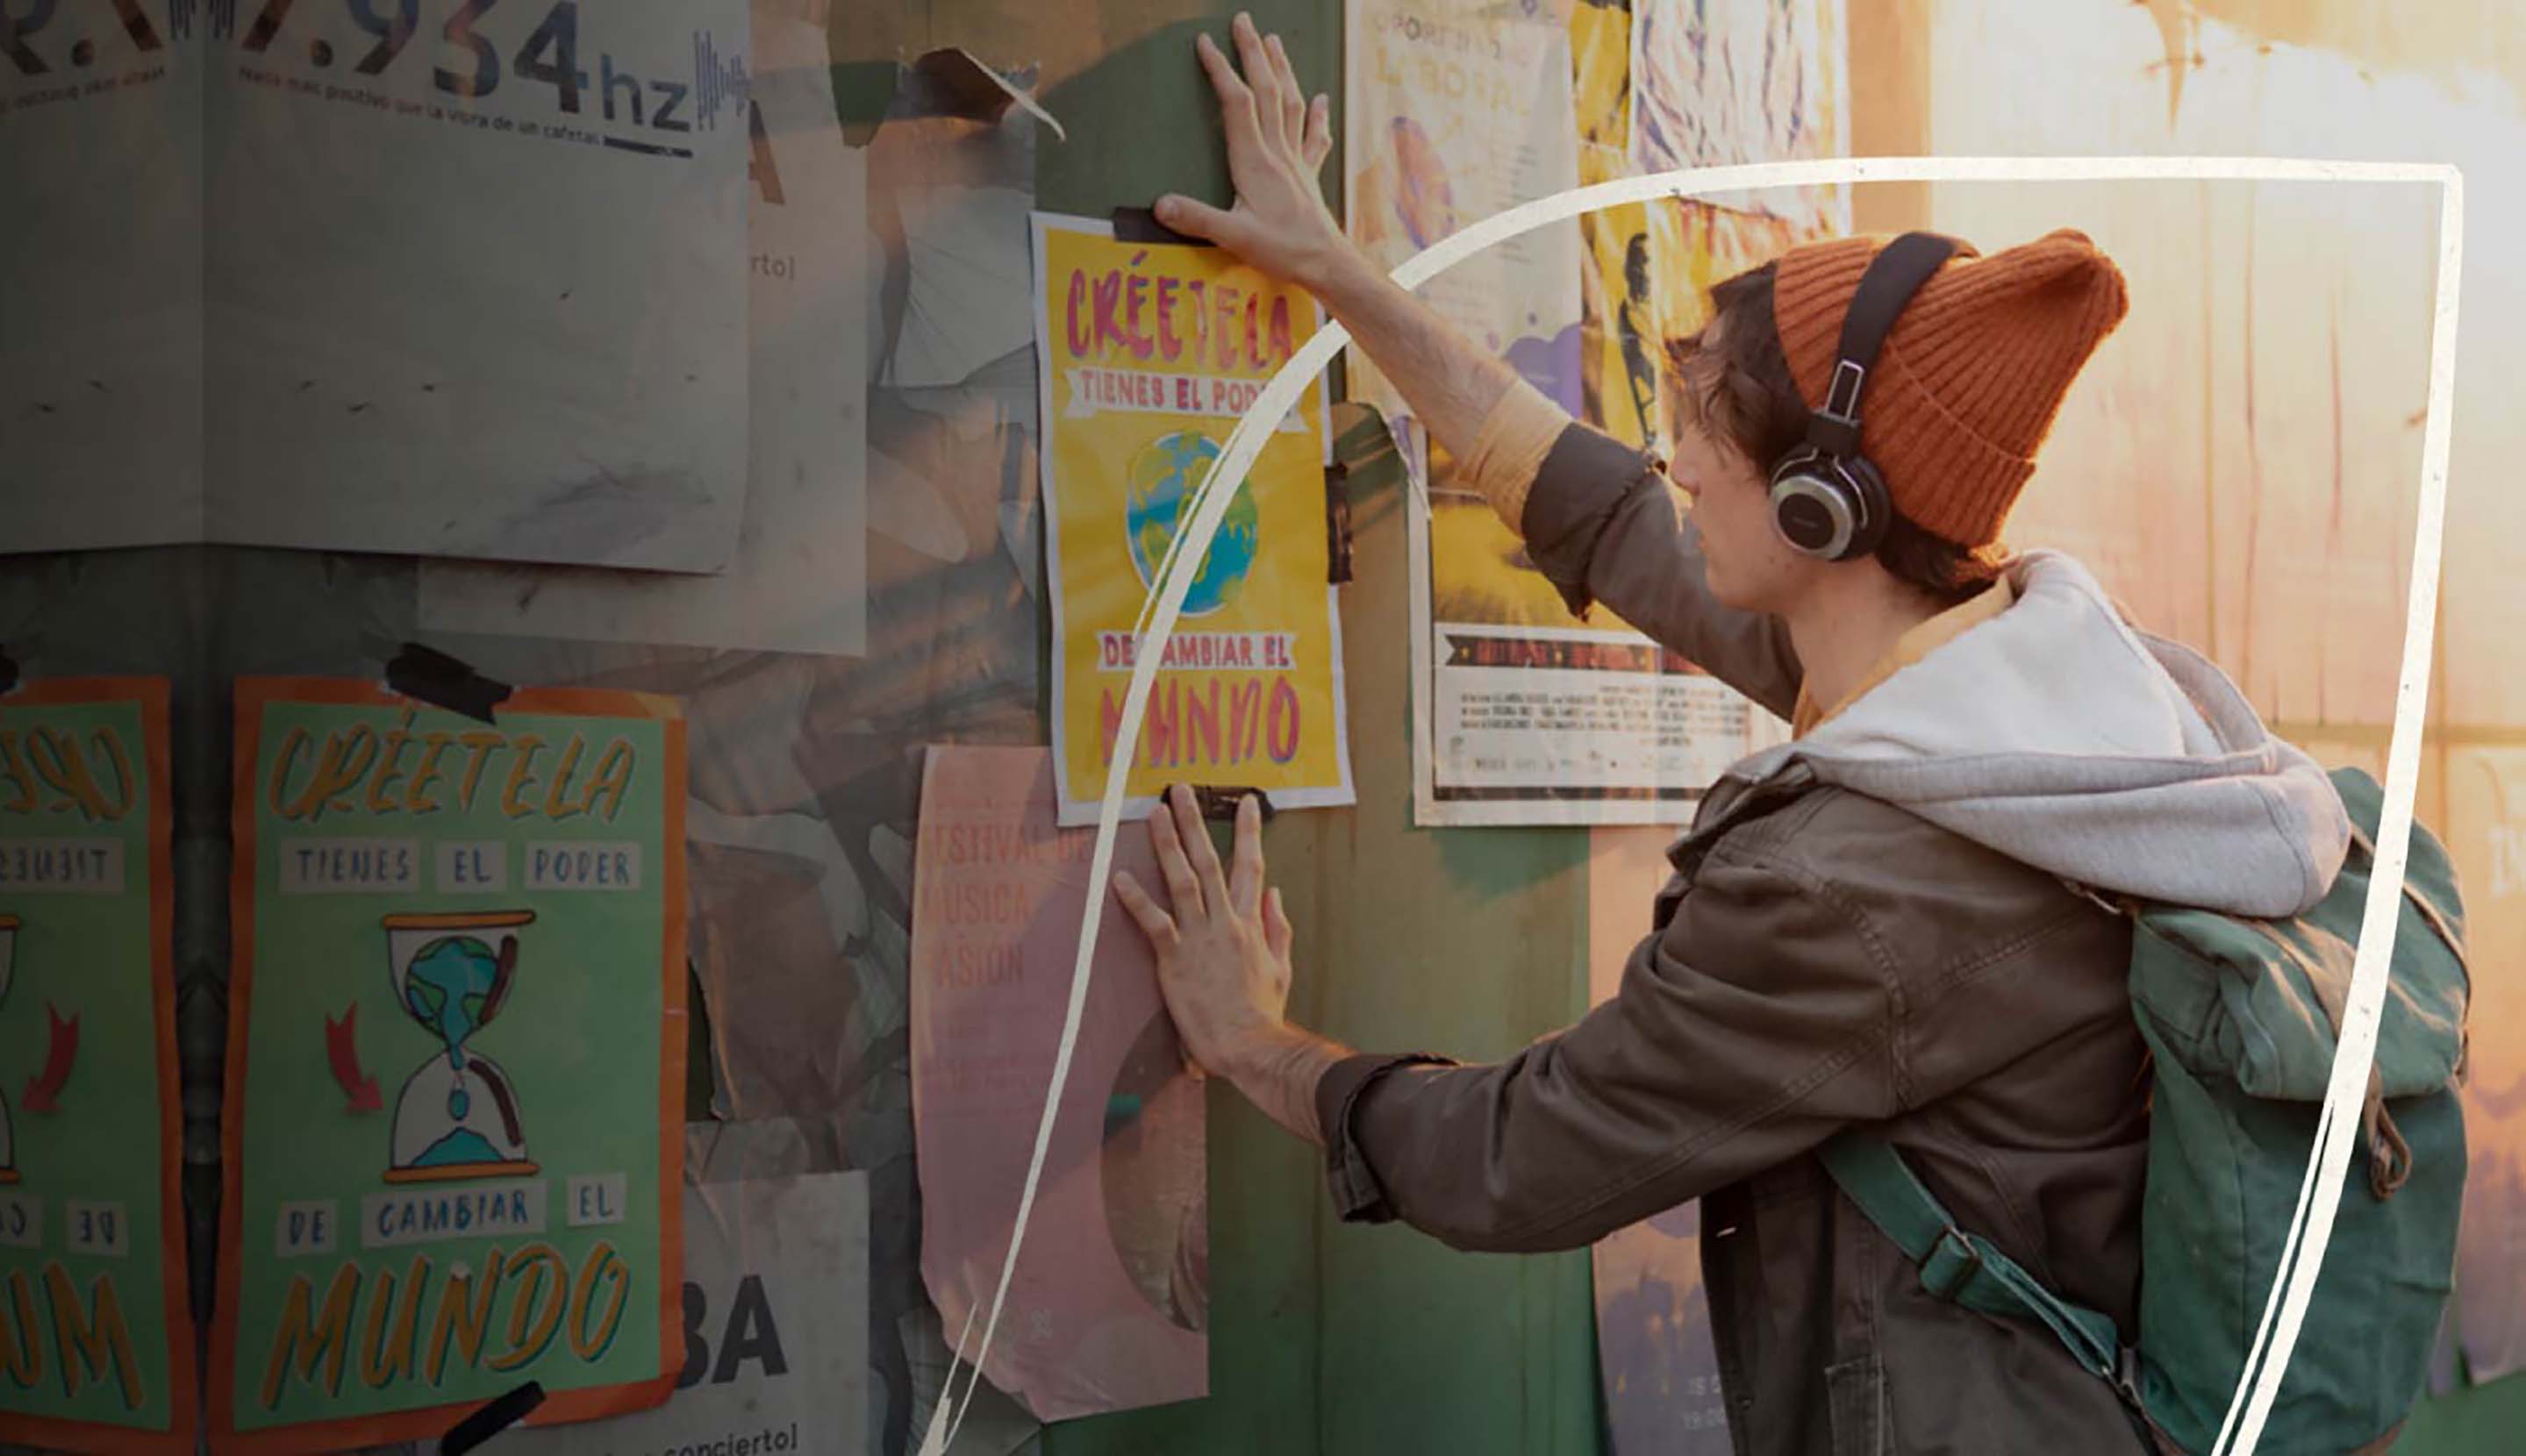
<svg viewBox="0 0 2526 1456">
<path fill-rule="evenodd" d="M 1465 472 L 1526 540 L 1571 616 L 1601 601 L 1773 714 L 1793 714 L 1806 669 L 1788 623 L 1710 596 L 1700 527 L 1644 452 L 1574 421 L 1518 381 Z"/>
</svg>

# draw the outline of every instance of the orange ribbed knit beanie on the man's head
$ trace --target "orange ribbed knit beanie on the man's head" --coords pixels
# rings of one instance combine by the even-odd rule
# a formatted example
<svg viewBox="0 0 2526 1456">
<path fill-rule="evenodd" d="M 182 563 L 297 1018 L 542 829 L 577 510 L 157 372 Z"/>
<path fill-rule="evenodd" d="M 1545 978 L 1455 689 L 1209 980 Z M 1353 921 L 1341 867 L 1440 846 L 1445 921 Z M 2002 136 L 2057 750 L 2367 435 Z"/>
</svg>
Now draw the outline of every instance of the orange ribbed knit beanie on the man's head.
<svg viewBox="0 0 2526 1456">
<path fill-rule="evenodd" d="M 1806 406 L 1824 404 L 1841 313 L 1889 237 L 1781 255 L 1773 318 Z M 1963 548 L 2001 537 L 2069 381 L 2122 323 L 2122 270 L 2069 227 L 1990 257 L 1960 247 L 1912 295 L 1869 371 L 1859 449 L 1894 510 Z"/>
</svg>

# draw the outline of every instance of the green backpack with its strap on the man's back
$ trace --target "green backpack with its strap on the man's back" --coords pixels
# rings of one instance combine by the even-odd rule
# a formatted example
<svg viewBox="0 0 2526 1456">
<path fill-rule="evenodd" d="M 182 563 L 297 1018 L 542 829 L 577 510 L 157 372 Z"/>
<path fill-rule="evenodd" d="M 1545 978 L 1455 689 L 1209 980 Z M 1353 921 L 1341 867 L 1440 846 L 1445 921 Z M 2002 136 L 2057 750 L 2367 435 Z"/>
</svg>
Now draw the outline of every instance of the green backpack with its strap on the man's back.
<svg viewBox="0 0 2526 1456">
<path fill-rule="evenodd" d="M 1887 1143 L 1852 1130 L 1819 1148 L 1932 1295 L 2046 1325 L 2190 1453 L 2218 1441 L 2281 1272 L 2349 994 L 2385 792 L 2359 770 L 2331 780 L 2352 850 L 2304 916 L 2117 906 L 2134 919 L 2132 1012 L 2152 1057 L 2137 1350 L 1960 1231 Z M 2470 979 L 2455 868 L 2420 823 L 2402 888 L 2352 1168 L 2261 1451 L 2382 1451 L 2420 1398 L 2453 1287 Z"/>
</svg>

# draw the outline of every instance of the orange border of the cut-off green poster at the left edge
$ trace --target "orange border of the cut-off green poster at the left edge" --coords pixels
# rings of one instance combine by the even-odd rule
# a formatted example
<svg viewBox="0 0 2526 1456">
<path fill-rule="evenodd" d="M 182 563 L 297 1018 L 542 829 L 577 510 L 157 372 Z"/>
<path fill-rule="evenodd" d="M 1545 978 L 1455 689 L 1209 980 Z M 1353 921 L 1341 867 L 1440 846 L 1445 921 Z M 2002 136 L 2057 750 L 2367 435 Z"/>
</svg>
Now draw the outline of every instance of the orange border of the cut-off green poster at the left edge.
<svg viewBox="0 0 2526 1456">
<path fill-rule="evenodd" d="M 159 1083 L 159 1297 L 167 1305 L 167 1431 L 66 1421 L 61 1416 L 0 1413 L 0 1438 L 28 1446 L 99 1451 L 104 1456 L 162 1456 L 195 1448 L 202 1423 L 200 1340 L 192 1325 L 192 1267 L 184 1234 L 184 1123 L 182 1065 L 174 1045 L 174 747 L 169 739 L 169 689 L 162 676 L 56 676 L 33 679 L 0 707 L 114 707 L 139 704 L 141 757 L 149 765 L 149 972 L 157 1002 Z"/>
</svg>

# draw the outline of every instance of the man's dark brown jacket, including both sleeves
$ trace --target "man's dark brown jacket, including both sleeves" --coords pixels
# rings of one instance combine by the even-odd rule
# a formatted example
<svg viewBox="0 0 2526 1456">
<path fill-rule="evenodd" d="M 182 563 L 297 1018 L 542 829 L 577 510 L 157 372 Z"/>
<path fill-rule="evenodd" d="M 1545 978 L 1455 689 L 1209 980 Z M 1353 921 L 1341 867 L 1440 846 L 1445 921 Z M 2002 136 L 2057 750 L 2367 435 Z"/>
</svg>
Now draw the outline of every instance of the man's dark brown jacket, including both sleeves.
<svg viewBox="0 0 2526 1456">
<path fill-rule="evenodd" d="M 1601 598 L 1791 714 L 1786 628 L 1708 598 L 1655 462 L 1569 426 L 1521 525 L 1574 608 Z M 2129 926 L 1801 767 L 1713 790 L 1622 989 L 1579 1024 L 1488 1067 L 1326 1072 L 1341 1216 L 1538 1252 L 1703 1199 L 1740 1453 L 2145 1451 L 2054 1335 L 1930 1297 L 1811 1156 L 1872 1125 L 1965 1229 L 2129 1337 L 2147 1143 Z"/>
</svg>

